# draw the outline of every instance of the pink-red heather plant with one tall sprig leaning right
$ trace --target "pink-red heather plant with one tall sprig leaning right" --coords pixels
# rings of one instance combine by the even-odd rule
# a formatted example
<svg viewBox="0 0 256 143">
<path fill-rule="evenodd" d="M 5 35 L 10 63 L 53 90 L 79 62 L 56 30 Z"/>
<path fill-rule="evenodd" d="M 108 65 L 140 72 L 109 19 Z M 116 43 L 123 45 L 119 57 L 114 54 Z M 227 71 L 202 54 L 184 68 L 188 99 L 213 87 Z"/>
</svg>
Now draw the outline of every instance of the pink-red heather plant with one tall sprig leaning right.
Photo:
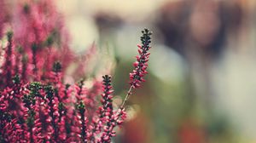
<svg viewBox="0 0 256 143">
<path fill-rule="evenodd" d="M 77 83 L 65 80 L 67 67 L 79 60 L 50 0 L 19 3 L 10 15 L 9 27 L 1 27 L 8 31 L 1 47 L 0 142 L 111 142 L 115 127 L 124 123 L 126 101 L 148 73 L 151 32 L 142 31 L 131 87 L 123 103 L 114 107 L 109 75 L 102 81 L 95 77 L 86 87 L 83 68 Z"/>
</svg>

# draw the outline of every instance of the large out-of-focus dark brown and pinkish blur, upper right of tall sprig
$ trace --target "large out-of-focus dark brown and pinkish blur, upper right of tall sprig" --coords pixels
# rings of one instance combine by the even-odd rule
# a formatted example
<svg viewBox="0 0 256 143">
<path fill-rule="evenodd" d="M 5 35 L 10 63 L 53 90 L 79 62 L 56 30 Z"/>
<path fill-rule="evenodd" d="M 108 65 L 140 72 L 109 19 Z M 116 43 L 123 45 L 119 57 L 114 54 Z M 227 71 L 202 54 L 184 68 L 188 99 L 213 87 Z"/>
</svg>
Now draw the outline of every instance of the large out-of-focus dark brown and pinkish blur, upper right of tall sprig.
<svg viewBox="0 0 256 143">
<path fill-rule="evenodd" d="M 238 1 L 186 0 L 160 8 L 156 26 L 178 53 L 195 49 L 214 57 L 224 49 L 227 34 L 239 30 L 242 17 Z"/>
</svg>

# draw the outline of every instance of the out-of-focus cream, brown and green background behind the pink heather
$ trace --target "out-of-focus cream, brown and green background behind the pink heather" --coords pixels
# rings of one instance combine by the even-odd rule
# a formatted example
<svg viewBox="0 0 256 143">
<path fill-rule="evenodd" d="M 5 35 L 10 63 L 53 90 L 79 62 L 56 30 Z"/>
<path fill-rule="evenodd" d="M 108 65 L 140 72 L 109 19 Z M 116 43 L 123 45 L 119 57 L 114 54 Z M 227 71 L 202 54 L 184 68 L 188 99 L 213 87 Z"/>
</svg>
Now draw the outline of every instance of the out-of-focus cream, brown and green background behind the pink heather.
<svg viewBox="0 0 256 143">
<path fill-rule="evenodd" d="M 58 0 L 80 52 L 114 55 L 125 96 L 141 30 L 154 32 L 149 74 L 115 142 L 256 142 L 255 0 Z"/>
</svg>

